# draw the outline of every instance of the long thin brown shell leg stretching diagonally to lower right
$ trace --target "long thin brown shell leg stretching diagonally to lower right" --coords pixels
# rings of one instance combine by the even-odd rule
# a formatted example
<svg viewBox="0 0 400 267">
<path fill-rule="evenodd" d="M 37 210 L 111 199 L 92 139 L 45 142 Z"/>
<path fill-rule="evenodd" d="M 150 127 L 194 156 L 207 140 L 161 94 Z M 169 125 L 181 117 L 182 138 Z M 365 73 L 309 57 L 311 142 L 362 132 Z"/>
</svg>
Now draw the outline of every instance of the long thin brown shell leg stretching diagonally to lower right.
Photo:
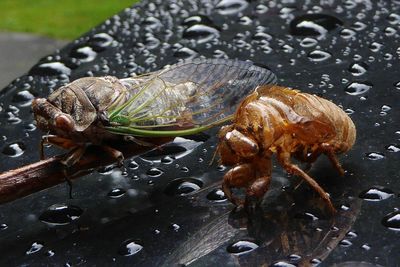
<svg viewBox="0 0 400 267">
<path fill-rule="evenodd" d="M 312 177 L 310 177 L 307 173 L 305 173 L 302 169 L 300 169 L 297 165 L 293 164 L 290 161 L 290 153 L 278 151 L 277 157 L 279 163 L 285 168 L 288 173 L 298 175 L 303 178 L 315 191 L 317 191 L 320 197 L 325 201 L 330 212 L 332 214 L 336 213 L 336 209 L 333 206 L 329 195 Z"/>
</svg>

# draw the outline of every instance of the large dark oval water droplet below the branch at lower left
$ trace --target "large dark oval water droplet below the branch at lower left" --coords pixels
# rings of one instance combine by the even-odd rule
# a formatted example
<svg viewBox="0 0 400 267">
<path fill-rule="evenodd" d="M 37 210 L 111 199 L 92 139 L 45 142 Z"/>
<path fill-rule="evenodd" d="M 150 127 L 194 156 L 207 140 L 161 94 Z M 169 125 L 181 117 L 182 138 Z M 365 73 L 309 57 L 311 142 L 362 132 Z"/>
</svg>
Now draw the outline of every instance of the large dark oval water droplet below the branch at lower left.
<svg viewBox="0 0 400 267">
<path fill-rule="evenodd" d="M 83 210 L 73 205 L 55 204 L 40 216 L 39 220 L 49 225 L 66 225 L 79 219 Z"/>
</svg>

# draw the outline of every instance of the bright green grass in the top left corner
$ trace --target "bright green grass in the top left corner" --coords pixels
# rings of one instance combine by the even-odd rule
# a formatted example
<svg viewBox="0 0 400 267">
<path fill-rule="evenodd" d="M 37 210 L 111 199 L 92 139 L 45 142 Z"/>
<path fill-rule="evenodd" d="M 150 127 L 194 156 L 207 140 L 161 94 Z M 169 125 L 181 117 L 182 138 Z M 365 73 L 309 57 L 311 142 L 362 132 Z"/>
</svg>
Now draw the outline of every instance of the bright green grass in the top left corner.
<svg viewBox="0 0 400 267">
<path fill-rule="evenodd" d="M 138 0 L 0 0 L 0 31 L 72 40 Z"/>
</svg>

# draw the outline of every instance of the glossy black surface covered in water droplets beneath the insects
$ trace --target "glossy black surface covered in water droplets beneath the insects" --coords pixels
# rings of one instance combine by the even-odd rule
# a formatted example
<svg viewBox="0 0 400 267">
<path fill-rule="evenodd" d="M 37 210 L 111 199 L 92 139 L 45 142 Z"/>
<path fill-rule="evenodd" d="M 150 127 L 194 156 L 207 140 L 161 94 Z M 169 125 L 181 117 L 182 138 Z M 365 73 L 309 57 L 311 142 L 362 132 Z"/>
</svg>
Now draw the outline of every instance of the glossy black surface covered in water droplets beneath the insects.
<svg viewBox="0 0 400 267">
<path fill-rule="evenodd" d="M 345 177 L 322 158 L 311 171 L 340 212 L 324 213 L 280 167 L 261 210 L 232 212 L 218 191 L 226 170 L 209 165 L 212 130 L 209 138 L 177 139 L 171 153 L 127 159 L 127 174 L 108 167 L 80 178 L 74 199 L 62 184 L 1 205 L 0 264 L 399 266 L 400 2 L 149 2 L 1 91 L 0 171 L 38 160 L 34 96 L 87 75 L 122 78 L 182 58 L 238 58 L 268 66 L 282 85 L 333 100 L 354 120 L 357 142 L 341 157 Z"/>
</svg>

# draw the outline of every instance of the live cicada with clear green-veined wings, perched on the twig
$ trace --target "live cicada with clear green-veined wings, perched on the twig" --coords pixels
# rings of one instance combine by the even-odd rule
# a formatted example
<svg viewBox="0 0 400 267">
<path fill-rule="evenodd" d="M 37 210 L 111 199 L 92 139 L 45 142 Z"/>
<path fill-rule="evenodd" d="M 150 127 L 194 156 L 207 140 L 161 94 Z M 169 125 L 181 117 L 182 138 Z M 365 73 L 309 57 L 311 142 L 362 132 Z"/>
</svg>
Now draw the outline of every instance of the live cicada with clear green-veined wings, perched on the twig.
<svg viewBox="0 0 400 267">
<path fill-rule="evenodd" d="M 199 133 L 232 118 L 237 105 L 276 76 L 250 62 L 194 59 L 145 75 L 118 79 L 86 77 L 32 102 L 41 142 L 69 149 L 74 165 L 86 145 L 100 145 L 121 161 L 110 140 L 175 137 Z"/>
</svg>

